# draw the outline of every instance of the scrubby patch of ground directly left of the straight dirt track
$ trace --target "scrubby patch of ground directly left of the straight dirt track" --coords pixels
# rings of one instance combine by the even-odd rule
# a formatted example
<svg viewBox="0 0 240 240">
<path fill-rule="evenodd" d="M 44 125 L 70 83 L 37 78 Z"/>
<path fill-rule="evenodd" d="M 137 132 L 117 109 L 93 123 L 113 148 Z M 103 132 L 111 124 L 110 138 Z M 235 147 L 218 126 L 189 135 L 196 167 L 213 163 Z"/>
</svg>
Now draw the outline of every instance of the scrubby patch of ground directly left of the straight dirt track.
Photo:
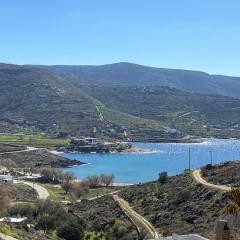
<svg viewBox="0 0 240 240">
<path fill-rule="evenodd" d="M 83 200 L 81 204 L 70 205 L 70 210 L 85 219 L 88 231 L 102 232 L 106 239 L 138 239 L 135 227 L 111 196 L 92 201 Z"/>
</svg>

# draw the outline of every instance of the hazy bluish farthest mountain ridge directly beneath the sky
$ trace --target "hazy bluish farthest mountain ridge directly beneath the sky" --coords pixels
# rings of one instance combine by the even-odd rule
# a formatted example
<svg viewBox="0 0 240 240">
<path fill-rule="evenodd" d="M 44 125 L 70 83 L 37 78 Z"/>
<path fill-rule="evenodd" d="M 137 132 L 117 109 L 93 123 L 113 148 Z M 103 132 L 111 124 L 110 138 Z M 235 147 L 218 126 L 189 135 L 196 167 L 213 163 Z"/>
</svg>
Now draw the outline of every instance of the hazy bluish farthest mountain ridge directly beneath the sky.
<svg viewBox="0 0 240 240">
<path fill-rule="evenodd" d="M 165 69 L 132 63 L 100 66 L 41 66 L 75 82 L 127 86 L 168 86 L 207 94 L 240 97 L 240 77 L 209 75 L 199 71 Z"/>
</svg>

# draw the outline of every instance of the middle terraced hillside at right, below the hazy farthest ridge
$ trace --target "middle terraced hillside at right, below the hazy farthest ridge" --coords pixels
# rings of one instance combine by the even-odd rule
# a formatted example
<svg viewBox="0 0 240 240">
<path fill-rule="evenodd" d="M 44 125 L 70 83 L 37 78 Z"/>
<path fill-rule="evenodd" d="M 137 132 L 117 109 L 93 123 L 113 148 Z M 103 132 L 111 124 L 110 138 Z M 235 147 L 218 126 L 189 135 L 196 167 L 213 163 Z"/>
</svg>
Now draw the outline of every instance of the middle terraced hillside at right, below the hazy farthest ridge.
<svg viewBox="0 0 240 240">
<path fill-rule="evenodd" d="M 185 133 L 239 137 L 240 101 L 231 97 L 188 93 L 169 87 L 84 87 L 108 108 L 161 122 Z"/>
</svg>

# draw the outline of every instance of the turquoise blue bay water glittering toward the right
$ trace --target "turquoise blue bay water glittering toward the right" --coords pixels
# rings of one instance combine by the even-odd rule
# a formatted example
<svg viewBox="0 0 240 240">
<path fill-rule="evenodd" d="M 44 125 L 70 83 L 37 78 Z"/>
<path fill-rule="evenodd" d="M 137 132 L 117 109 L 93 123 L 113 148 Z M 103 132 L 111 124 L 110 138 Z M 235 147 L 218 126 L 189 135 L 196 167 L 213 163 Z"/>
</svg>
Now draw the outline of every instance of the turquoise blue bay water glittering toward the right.
<svg viewBox="0 0 240 240">
<path fill-rule="evenodd" d="M 206 139 L 198 144 L 181 143 L 133 143 L 137 147 L 153 150 L 154 153 L 120 154 L 77 154 L 62 153 L 63 157 L 89 163 L 65 171 L 72 171 L 79 179 L 101 173 L 114 174 L 115 182 L 139 183 L 155 180 L 158 173 L 167 171 L 169 175 L 182 173 L 188 168 L 189 148 L 191 167 L 201 167 L 227 160 L 240 159 L 240 141 Z"/>
</svg>

